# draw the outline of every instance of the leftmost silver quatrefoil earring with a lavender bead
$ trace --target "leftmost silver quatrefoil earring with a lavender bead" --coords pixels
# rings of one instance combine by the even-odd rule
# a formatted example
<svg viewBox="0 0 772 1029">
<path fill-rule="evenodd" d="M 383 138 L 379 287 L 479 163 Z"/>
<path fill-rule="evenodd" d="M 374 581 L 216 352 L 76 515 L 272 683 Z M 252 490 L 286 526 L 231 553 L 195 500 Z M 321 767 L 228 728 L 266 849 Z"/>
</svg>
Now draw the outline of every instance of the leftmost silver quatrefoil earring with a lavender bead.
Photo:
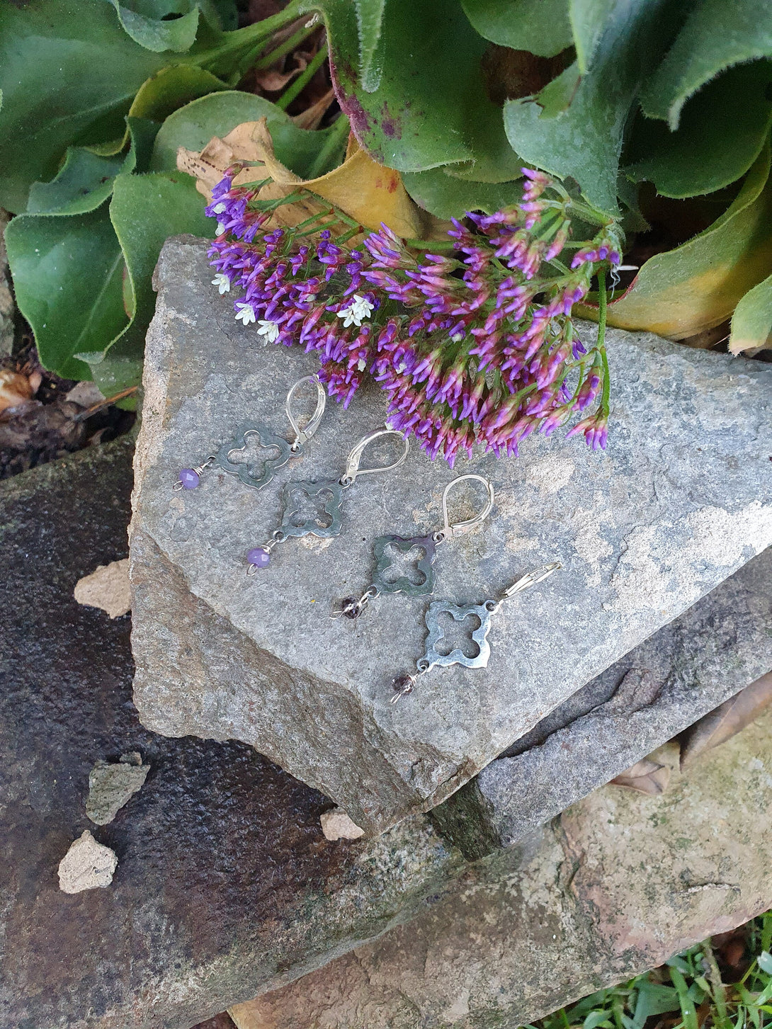
<svg viewBox="0 0 772 1029">
<path fill-rule="evenodd" d="M 292 414 L 292 400 L 297 389 L 304 383 L 313 383 L 316 386 L 316 409 L 308 424 L 301 428 Z M 174 484 L 173 488 L 175 490 L 195 490 L 204 472 L 213 465 L 217 465 L 229 475 L 237 475 L 245 486 L 261 490 L 274 477 L 277 468 L 285 465 L 290 457 L 299 457 L 303 453 L 303 445 L 319 428 L 326 403 L 327 394 L 319 379 L 316 376 L 304 376 L 290 388 L 284 401 L 284 413 L 294 432 L 294 439 L 291 443 L 287 442 L 283 436 L 277 436 L 262 422 L 241 425 L 235 438 L 223 443 L 217 453 L 210 455 L 203 464 L 196 468 L 181 468 L 179 481 Z M 249 460 L 249 455 L 246 452 L 252 443 L 257 443 L 266 450 L 274 450 L 277 454 L 275 457 Z M 241 460 L 239 454 L 242 454 Z"/>
</svg>

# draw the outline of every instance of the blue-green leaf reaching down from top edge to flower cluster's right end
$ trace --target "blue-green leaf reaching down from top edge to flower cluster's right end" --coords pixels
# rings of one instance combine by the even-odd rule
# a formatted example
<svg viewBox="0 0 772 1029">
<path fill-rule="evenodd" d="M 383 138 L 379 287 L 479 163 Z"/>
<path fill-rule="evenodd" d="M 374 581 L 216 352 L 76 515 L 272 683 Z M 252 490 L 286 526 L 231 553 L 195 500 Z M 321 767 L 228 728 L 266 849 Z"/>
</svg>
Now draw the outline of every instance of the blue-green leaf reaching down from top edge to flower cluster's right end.
<svg viewBox="0 0 772 1029">
<path fill-rule="evenodd" d="M 504 106 L 513 149 L 528 164 L 574 178 L 588 201 L 608 214 L 618 210 L 619 158 L 631 105 L 670 38 L 669 2 L 615 5 L 594 44 L 592 67 L 565 110 L 547 116 L 542 103 L 552 100 L 549 95 Z"/>
</svg>

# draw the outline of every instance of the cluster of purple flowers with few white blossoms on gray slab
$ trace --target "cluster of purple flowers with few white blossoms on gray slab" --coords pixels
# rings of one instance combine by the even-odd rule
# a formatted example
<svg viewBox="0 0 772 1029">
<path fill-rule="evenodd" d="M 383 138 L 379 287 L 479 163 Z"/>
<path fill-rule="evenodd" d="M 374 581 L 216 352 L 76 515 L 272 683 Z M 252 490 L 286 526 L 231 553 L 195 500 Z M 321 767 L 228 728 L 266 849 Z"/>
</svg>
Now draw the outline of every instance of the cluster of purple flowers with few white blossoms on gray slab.
<svg viewBox="0 0 772 1029">
<path fill-rule="evenodd" d="M 236 317 L 269 342 L 316 351 L 344 405 L 372 376 L 389 396 L 389 425 L 432 459 L 452 466 L 476 443 L 516 455 L 531 432 L 550 434 L 596 401 L 568 435 L 604 448 L 605 354 L 587 352 L 571 311 L 593 275 L 619 263 L 615 226 L 571 244 L 571 199 L 545 173 L 524 175 L 520 205 L 454 220 L 447 249 L 422 253 L 386 225 L 354 248 L 361 233 L 321 216 L 267 232 L 276 202 L 227 174 L 207 208 L 218 219 L 214 284 L 240 291 Z"/>
</svg>

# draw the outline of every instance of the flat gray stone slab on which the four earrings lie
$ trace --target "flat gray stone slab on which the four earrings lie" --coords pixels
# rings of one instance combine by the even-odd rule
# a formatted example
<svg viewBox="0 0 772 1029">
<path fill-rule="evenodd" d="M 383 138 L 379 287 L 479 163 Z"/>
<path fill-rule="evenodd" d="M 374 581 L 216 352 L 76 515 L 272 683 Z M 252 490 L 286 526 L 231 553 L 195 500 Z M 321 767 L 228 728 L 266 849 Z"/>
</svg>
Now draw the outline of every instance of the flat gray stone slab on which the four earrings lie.
<svg viewBox="0 0 772 1029">
<path fill-rule="evenodd" d="M 441 803 L 770 542 L 772 368 L 611 331 L 607 454 L 531 438 L 519 460 L 450 471 L 414 448 L 348 491 L 339 538 L 291 540 L 247 577 L 281 485 L 340 475 L 386 401 L 373 388 L 331 404 L 259 493 L 216 473 L 173 493 L 238 425 L 286 432 L 286 391 L 317 366 L 236 323 L 211 278 L 205 243 L 167 243 L 131 536 L 135 700 L 155 732 L 249 742 L 379 831 Z M 494 483 L 495 517 L 442 548 L 435 597 L 479 603 L 545 562 L 563 571 L 497 613 L 487 670 L 435 669 L 391 705 L 392 677 L 423 653 L 425 600 L 384 597 L 355 624 L 330 608 L 370 581 L 377 535 L 432 531 L 443 488 L 472 470 Z"/>
</svg>

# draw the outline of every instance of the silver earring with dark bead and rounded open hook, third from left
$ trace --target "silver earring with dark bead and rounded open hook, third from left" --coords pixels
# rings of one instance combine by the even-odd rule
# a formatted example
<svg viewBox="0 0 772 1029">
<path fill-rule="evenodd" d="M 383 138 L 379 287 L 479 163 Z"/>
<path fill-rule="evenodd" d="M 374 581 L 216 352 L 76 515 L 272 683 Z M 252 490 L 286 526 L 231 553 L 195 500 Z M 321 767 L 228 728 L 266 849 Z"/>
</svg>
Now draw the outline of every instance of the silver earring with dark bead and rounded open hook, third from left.
<svg viewBox="0 0 772 1029">
<path fill-rule="evenodd" d="M 485 506 L 477 514 L 463 522 L 451 522 L 448 513 L 448 498 L 453 490 L 461 483 L 475 480 L 482 483 L 486 489 L 487 496 Z M 467 474 L 458 475 L 452 480 L 443 492 L 443 521 L 442 529 L 432 532 L 429 536 L 378 536 L 373 544 L 373 555 L 375 557 L 376 570 L 373 573 L 373 581 L 358 599 L 356 597 L 346 597 L 341 601 L 340 607 L 332 611 L 331 618 L 358 618 L 367 604 L 380 597 L 383 593 L 403 593 L 408 597 L 425 597 L 434 592 L 434 560 L 436 558 L 437 546 L 448 539 L 449 536 L 461 536 L 471 529 L 482 525 L 493 508 L 493 486 L 482 475 Z M 400 575 L 395 579 L 386 578 L 386 574 L 394 564 L 394 552 L 410 554 L 411 551 L 422 553 L 422 557 L 415 565 L 416 572 L 423 576 L 420 581 L 413 582 L 407 575 Z"/>
</svg>

